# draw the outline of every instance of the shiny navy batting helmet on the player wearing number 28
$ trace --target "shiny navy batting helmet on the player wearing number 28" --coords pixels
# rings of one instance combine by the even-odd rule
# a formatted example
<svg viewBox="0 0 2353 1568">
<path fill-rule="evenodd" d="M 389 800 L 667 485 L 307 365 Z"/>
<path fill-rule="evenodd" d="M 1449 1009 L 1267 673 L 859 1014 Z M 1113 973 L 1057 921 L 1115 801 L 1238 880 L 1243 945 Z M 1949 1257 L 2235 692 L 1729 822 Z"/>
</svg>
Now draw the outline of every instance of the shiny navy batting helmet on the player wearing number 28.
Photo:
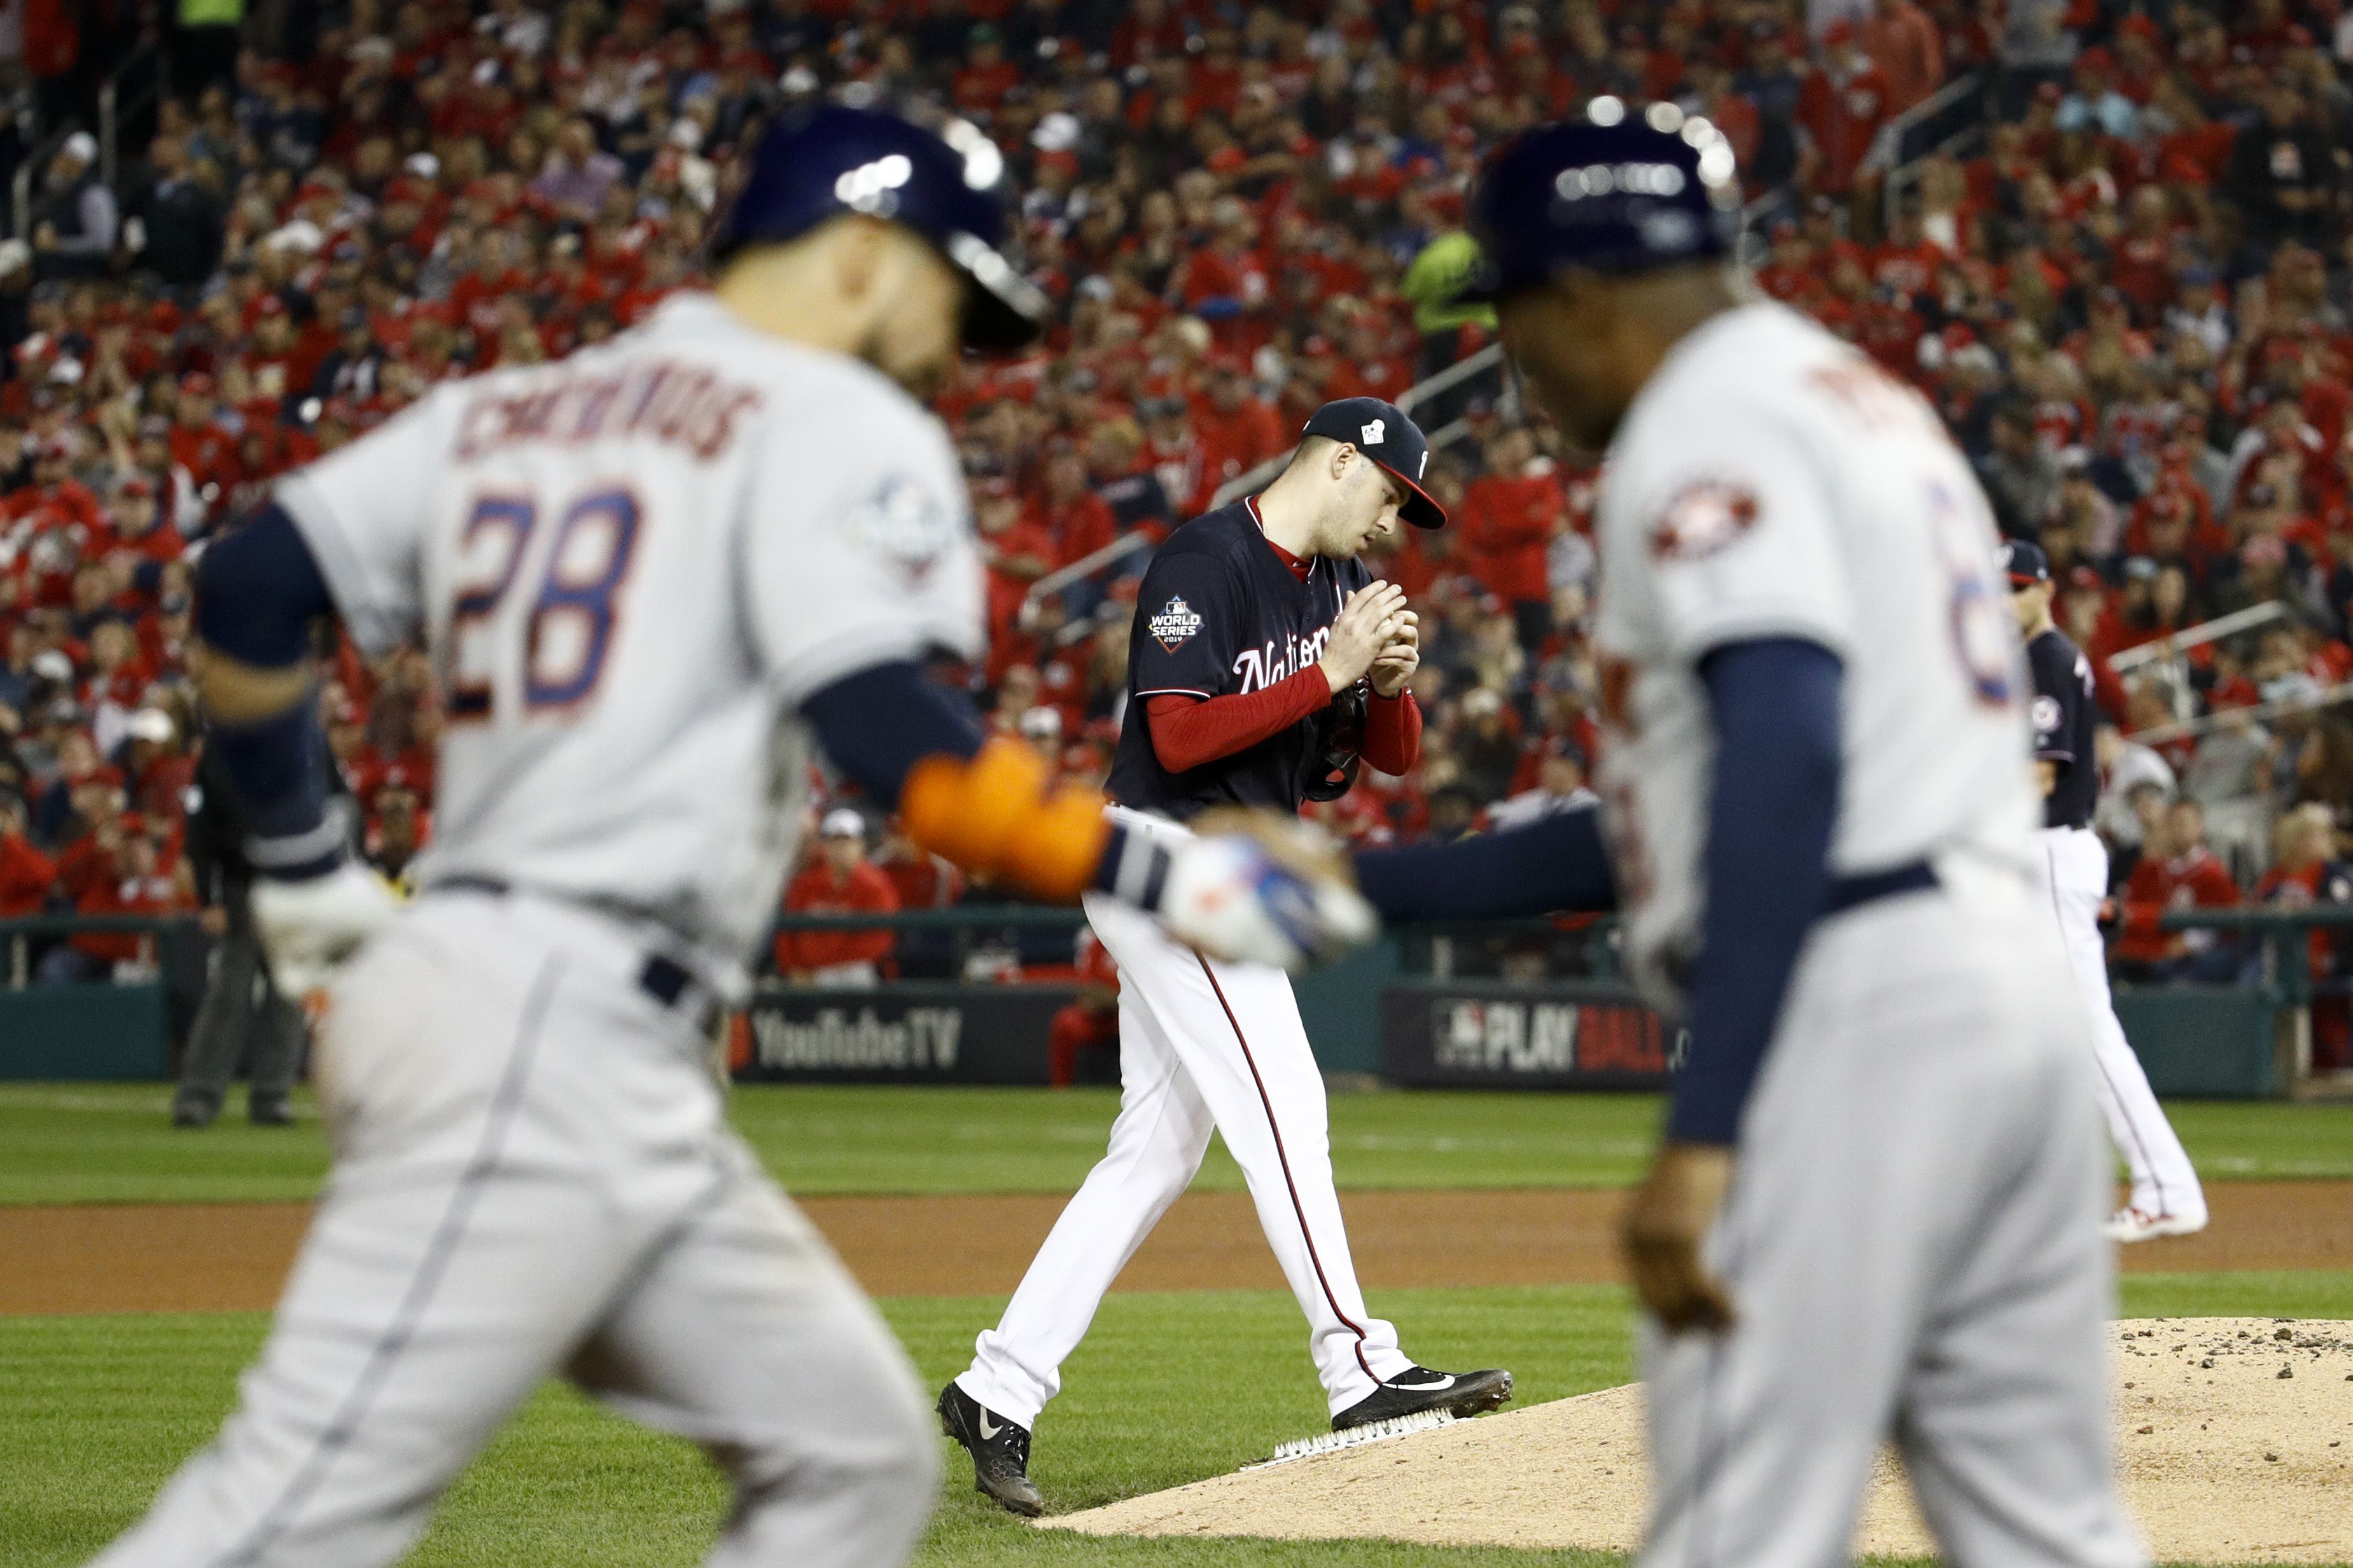
<svg viewBox="0 0 2353 1568">
<path fill-rule="evenodd" d="M 805 235 L 842 212 L 904 223 L 972 280 L 965 343 L 1019 348 L 1045 327 L 1047 301 L 1005 244 L 1005 155 L 965 120 L 936 132 L 882 108 L 821 103 L 779 115 L 751 155 L 751 176 L 711 237 L 711 259 Z"/>
</svg>

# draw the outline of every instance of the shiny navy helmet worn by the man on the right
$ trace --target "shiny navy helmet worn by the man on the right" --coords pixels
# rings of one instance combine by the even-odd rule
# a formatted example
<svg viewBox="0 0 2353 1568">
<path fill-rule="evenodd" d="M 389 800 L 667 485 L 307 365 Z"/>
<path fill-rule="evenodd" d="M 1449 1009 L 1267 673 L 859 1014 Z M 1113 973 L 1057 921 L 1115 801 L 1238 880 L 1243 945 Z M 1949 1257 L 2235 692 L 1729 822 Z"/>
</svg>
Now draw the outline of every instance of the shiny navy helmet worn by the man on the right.
<svg viewBox="0 0 2353 1568">
<path fill-rule="evenodd" d="M 1534 289 L 1565 268 L 1642 273 L 1729 256 L 1741 230 L 1732 143 L 1673 103 L 1593 99 L 1586 120 L 1504 143 L 1471 193 L 1485 259 L 1466 301 Z"/>
</svg>

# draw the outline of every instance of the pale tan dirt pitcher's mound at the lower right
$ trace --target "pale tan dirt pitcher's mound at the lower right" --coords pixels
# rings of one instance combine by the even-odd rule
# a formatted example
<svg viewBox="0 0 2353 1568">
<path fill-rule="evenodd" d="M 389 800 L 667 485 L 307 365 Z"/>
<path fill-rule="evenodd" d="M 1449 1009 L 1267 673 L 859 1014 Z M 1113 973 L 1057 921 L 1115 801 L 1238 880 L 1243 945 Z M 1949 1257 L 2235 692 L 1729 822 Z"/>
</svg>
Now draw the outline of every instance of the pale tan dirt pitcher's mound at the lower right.
<svg viewBox="0 0 2353 1568">
<path fill-rule="evenodd" d="M 2353 1561 L 2353 1324 L 2122 1321 L 2111 1366 L 2125 1497 L 2158 1561 Z M 1038 1523 L 1624 1552 L 1647 1490 L 1642 1389 L 1619 1387 Z M 1857 1552 L 1934 1552 L 1887 1458 Z"/>
</svg>

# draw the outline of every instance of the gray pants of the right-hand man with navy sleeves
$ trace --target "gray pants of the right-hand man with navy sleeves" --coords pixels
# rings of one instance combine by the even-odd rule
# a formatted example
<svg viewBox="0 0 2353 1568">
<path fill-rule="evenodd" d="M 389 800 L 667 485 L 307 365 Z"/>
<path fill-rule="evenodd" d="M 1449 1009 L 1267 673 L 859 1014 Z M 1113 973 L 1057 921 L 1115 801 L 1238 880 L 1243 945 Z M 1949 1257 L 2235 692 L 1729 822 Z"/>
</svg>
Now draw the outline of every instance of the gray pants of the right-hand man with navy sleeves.
<svg viewBox="0 0 2353 1568">
<path fill-rule="evenodd" d="M 2024 879 L 1824 919 L 1708 1258 L 1739 1321 L 1645 1324 L 1642 1568 L 1845 1563 L 1880 1441 L 1960 1568 L 2139 1568 L 2115 1500 L 2106 1150 Z"/>
</svg>

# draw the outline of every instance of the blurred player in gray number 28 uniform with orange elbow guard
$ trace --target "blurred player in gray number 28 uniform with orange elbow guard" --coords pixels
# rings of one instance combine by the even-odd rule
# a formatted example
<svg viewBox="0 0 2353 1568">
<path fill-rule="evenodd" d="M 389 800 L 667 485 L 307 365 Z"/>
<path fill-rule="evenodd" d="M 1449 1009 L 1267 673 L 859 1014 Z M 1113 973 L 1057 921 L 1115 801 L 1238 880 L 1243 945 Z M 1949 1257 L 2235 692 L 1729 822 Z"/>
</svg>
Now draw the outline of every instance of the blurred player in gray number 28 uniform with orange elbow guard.
<svg viewBox="0 0 2353 1568">
<path fill-rule="evenodd" d="M 704 1070 L 812 741 L 1007 886 L 1120 886 L 1249 959 L 1360 924 L 1249 839 L 1129 839 L 922 675 L 979 656 L 981 574 L 915 395 L 1038 322 L 1000 169 L 962 125 L 784 120 L 713 294 L 435 390 L 205 552 L 198 679 L 254 924 L 292 992 L 346 964 L 336 1168 L 238 1410 L 106 1568 L 388 1563 L 558 1373 L 729 1472 L 708 1561 L 906 1556 L 939 1479 L 913 1373 Z M 440 832 L 400 910 L 327 795 L 322 616 L 372 656 L 421 635 L 445 689 Z"/>
</svg>

